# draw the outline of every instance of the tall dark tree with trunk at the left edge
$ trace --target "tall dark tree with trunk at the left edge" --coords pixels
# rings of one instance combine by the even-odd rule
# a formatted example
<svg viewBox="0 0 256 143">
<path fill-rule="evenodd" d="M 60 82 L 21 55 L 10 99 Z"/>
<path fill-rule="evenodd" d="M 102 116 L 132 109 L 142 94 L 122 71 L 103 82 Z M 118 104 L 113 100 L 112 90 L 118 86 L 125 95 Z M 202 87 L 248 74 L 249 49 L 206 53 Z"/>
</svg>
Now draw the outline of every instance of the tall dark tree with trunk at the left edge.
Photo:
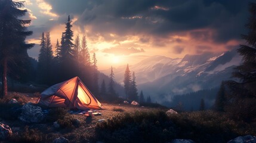
<svg viewBox="0 0 256 143">
<path fill-rule="evenodd" d="M 27 58 L 27 49 L 33 44 L 25 42 L 26 36 L 32 35 L 27 31 L 26 24 L 31 20 L 19 20 L 26 14 L 27 10 L 21 10 L 24 2 L 13 2 L 10 0 L 0 1 L 0 61 L 2 70 L 2 93 L 1 97 L 7 95 L 7 69 L 11 58 L 12 61 Z"/>
</svg>

